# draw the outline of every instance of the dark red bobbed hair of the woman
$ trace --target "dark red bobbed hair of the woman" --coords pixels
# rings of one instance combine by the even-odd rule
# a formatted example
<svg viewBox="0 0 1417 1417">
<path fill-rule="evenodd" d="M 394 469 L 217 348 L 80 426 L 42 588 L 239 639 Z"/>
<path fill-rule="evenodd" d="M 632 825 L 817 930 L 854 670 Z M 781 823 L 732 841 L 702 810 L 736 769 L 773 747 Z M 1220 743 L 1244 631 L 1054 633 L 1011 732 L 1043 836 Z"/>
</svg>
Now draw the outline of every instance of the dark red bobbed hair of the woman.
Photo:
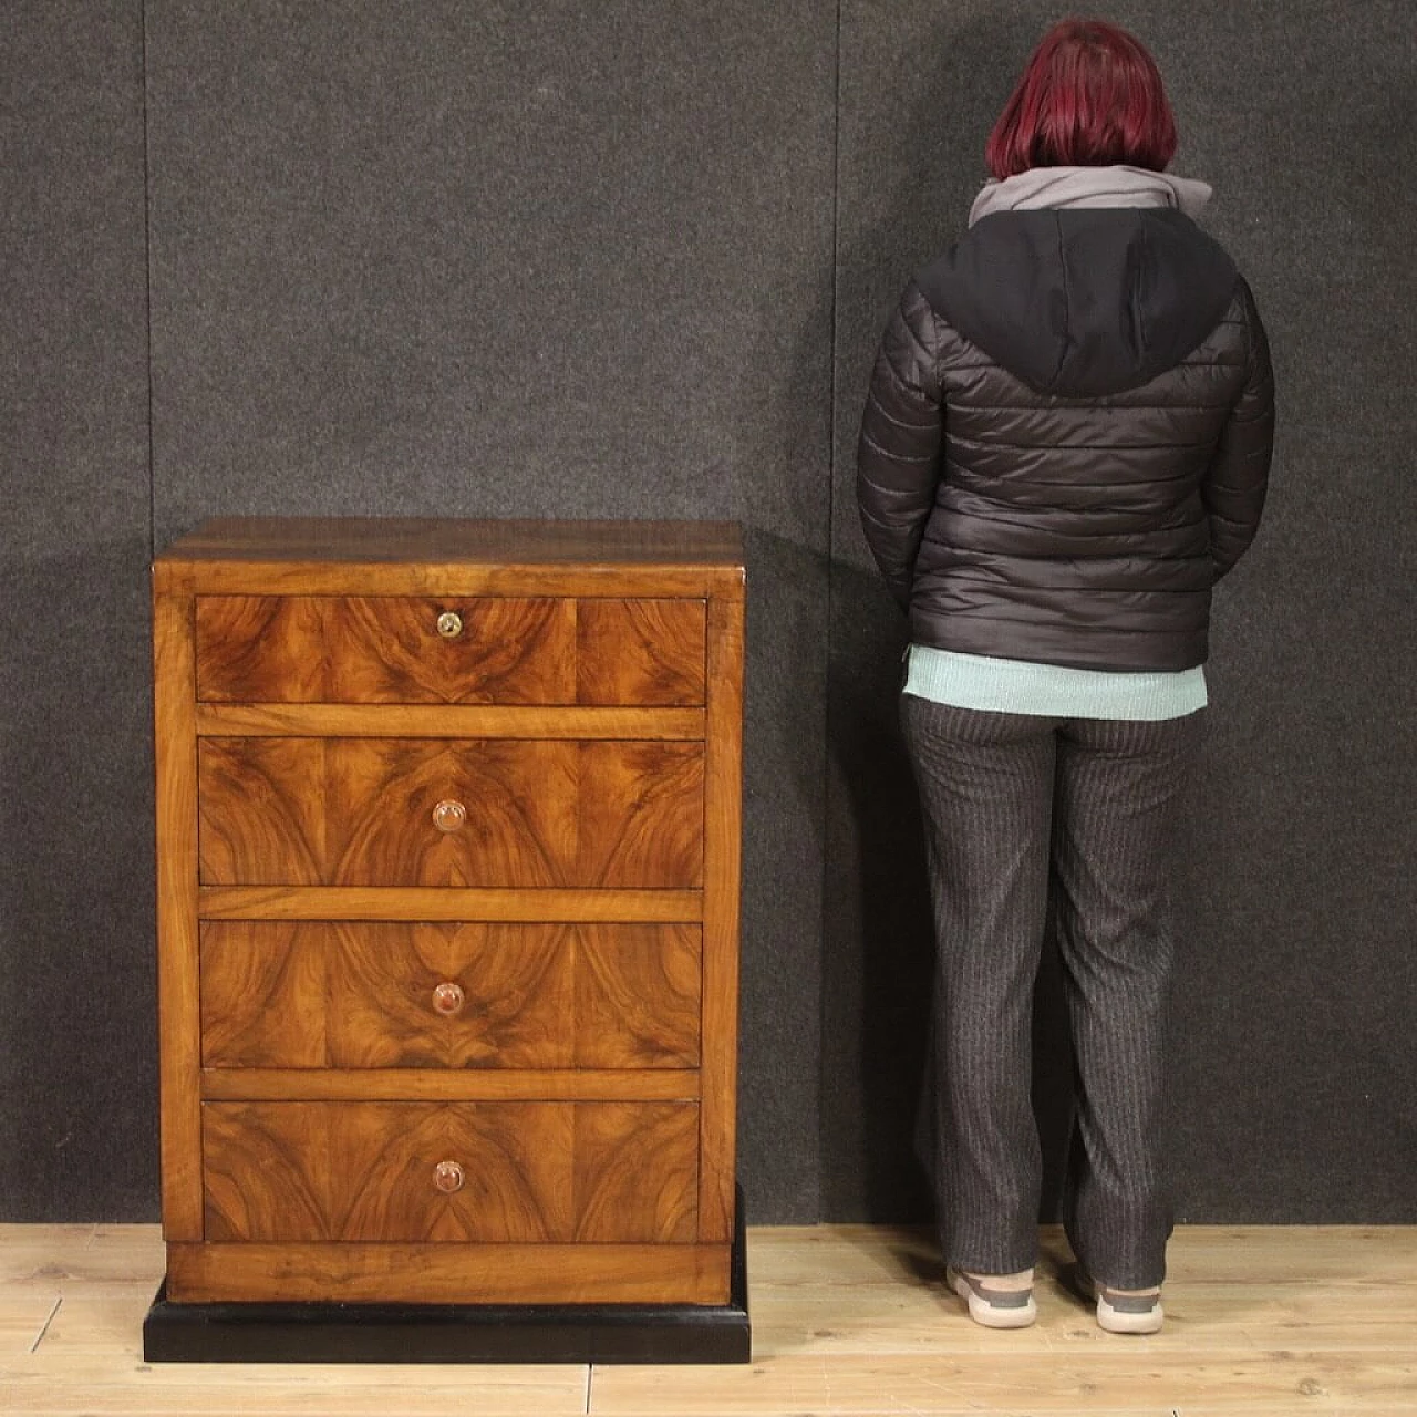
<svg viewBox="0 0 1417 1417">
<path fill-rule="evenodd" d="M 983 154 L 1000 181 L 1030 167 L 1163 171 L 1176 118 L 1156 61 L 1115 24 L 1063 20 L 1033 51 Z"/>
</svg>

